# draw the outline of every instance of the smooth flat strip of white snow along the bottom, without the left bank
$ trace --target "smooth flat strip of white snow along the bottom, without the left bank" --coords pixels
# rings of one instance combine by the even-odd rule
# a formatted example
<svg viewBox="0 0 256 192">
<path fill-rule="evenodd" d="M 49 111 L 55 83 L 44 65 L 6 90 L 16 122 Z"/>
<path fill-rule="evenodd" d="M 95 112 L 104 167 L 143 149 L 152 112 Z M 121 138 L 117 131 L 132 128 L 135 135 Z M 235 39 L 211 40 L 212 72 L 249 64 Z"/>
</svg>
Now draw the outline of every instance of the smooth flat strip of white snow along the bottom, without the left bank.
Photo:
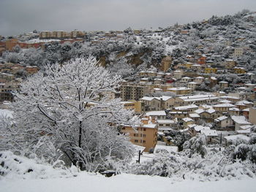
<svg viewBox="0 0 256 192">
<path fill-rule="evenodd" d="M 246 192 L 256 191 L 256 179 L 221 180 L 217 182 L 198 182 L 185 180 L 172 182 L 171 178 L 120 174 L 105 177 L 99 174 L 81 172 L 77 177 L 33 180 L 0 180 L 3 192 L 80 192 L 80 191 L 196 191 L 196 192 Z"/>
</svg>

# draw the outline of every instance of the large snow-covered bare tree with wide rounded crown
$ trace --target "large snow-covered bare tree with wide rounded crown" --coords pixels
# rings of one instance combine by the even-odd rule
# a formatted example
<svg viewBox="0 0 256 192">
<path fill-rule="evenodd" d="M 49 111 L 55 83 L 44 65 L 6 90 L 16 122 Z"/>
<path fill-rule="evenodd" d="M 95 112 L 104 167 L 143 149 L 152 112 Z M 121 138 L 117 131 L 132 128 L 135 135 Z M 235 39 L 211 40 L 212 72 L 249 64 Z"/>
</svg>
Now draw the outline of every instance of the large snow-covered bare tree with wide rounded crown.
<svg viewBox="0 0 256 192">
<path fill-rule="evenodd" d="M 118 88 L 120 80 L 91 56 L 49 65 L 29 77 L 12 106 L 23 138 L 16 149 L 48 161 L 61 154 L 91 172 L 113 169 L 115 162 L 126 163 L 133 147 L 118 134 L 117 126 L 129 123 L 132 111 L 108 94 Z"/>
</svg>

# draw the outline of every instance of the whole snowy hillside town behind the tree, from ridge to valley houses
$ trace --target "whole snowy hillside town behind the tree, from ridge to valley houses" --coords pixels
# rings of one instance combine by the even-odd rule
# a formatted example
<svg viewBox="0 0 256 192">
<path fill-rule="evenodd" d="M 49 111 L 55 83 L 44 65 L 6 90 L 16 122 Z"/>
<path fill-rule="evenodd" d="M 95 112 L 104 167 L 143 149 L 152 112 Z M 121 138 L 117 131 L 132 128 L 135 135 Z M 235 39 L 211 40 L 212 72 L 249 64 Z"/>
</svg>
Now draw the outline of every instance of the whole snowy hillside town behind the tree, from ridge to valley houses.
<svg viewBox="0 0 256 192">
<path fill-rule="evenodd" d="M 231 34 L 223 37 L 222 30 L 219 33 L 211 32 L 216 28 L 213 25 L 208 34 L 205 31 L 206 37 L 200 37 L 196 45 L 192 46 L 190 55 L 177 55 L 177 51 L 181 52 L 181 44 L 188 46 L 181 39 L 189 39 L 195 35 L 195 29 L 192 30 L 191 26 L 202 28 L 215 22 L 217 18 L 192 25 L 161 28 L 157 31 L 131 28 L 110 32 L 34 31 L 16 38 L 2 37 L 1 109 L 8 110 L 10 102 L 14 99 L 13 93 L 19 91 L 20 83 L 42 67 L 38 61 L 34 65 L 25 63 L 26 60 L 22 57 L 28 54 L 26 50 L 42 52 L 57 43 L 58 46 L 66 46 L 69 51 L 72 50 L 70 45 L 75 45 L 76 42 L 89 43 L 89 47 L 94 47 L 101 44 L 113 46 L 113 42 L 127 41 L 144 49 L 145 39 L 151 38 L 151 41 L 157 43 L 165 42 L 164 52 L 167 55 L 160 53 L 156 55 L 160 58 L 140 64 L 142 58 L 136 60 L 140 55 L 138 53 L 127 66 L 125 57 L 130 54 L 127 50 L 124 50 L 124 53 L 117 50 L 114 55 L 116 58 L 110 58 L 111 55 L 108 59 L 106 56 L 99 57 L 102 66 L 114 71 L 113 66 L 116 65 L 116 72 L 124 77 L 118 91 L 110 93 L 111 98 L 121 98 L 120 104 L 126 109 L 134 110 L 135 115 L 140 117 L 141 123 L 136 125 L 135 129 L 124 126 L 121 132 L 129 134 L 133 144 L 145 147 L 144 152 L 153 152 L 158 145 L 165 145 L 165 149 L 169 146 L 177 147 L 173 140 L 175 135 L 170 136 L 173 131 L 176 134 L 189 134 L 190 137 L 195 137 L 198 133 L 205 134 L 207 145 L 214 147 L 225 147 L 236 138 L 248 140 L 256 124 L 256 68 L 252 66 L 252 61 L 255 61 L 255 38 L 252 37 L 256 33 L 255 14 L 252 12 L 240 16 L 243 27 L 238 28 L 246 32 L 247 36 L 244 33 L 244 37 L 233 37 Z M 233 18 L 222 19 L 221 22 L 231 23 L 223 26 L 232 25 Z M 211 33 L 215 35 L 210 38 L 208 35 Z M 192 43 L 191 39 L 190 44 Z M 135 47 L 132 47 L 131 51 Z M 121 61 L 121 57 L 124 61 Z M 135 63 L 132 64 L 132 61 Z M 134 66 L 138 66 L 137 69 Z"/>
</svg>

